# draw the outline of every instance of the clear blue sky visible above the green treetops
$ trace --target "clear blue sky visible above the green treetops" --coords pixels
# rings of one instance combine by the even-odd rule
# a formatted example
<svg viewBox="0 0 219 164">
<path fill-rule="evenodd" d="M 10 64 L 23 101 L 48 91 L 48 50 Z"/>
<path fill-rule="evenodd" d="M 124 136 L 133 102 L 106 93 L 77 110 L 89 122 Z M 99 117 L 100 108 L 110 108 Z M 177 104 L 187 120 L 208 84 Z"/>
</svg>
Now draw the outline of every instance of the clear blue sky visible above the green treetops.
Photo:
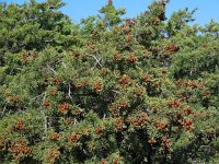
<svg viewBox="0 0 219 164">
<path fill-rule="evenodd" d="M 16 3 L 23 3 L 28 0 L 0 0 Z M 44 1 L 44 0 L 37 0 Z M 132 17 L 145 11 L 152 0 L 113 0 L 117 8 L 126 8 L 127 17 Z M 61 11 L 68 14 L 73 22 L 78 23 L 82 17 L 96 14 L 107 0 L 64 0 L 67 3 Z M 198 8 L 195 13 L 196 22 L 198 24 L 206 24 L 210 19 L 219 22 L 219 0 L 171 0 L 168 4 L 169 16 L 173 11 L 188 7 L 189 10 Z"/>
</svg>

